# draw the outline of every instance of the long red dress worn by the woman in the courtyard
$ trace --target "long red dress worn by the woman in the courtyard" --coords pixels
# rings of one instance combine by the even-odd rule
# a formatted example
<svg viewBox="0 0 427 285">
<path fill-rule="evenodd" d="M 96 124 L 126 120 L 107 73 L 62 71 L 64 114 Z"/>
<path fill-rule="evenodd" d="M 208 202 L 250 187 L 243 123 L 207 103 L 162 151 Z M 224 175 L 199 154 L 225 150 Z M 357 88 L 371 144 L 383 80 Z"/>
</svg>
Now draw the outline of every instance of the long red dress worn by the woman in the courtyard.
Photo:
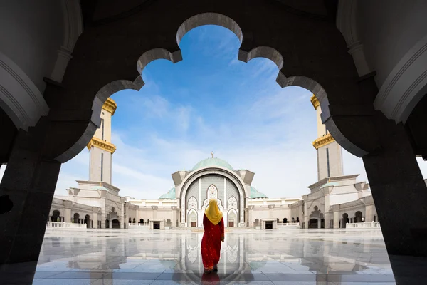
<svg viewBox="0 0 427 285">
<path fill-rule="evenodd" d="M 224 237 L 224 220 L 221 218 L 218 224 L 212 224 L 204 214 L 203 227 L 205 232 L 201 239 L 201 260 L 205 270 L 212 270 L 219 262 L 221 238 Z"/>
</svg>

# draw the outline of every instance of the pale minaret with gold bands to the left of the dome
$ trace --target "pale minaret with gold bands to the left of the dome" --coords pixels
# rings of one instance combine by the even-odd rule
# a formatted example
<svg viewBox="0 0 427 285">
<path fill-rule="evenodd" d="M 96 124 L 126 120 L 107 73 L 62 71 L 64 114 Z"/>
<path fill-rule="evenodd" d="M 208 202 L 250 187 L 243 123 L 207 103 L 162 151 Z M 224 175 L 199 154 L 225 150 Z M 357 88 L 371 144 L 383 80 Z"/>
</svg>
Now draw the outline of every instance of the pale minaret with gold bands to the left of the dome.
<svg viewBox="0 0 427 285">
<path fill-rule="evenodd" d="M 114 100 L 108 98 L 102 105 L 101 127 L 88 143 L 90 151 L 89 181 L 111 184 L 112 154 L 116 147 L 111 143 L 111 117 L 117 109 Z"/>
</svg>

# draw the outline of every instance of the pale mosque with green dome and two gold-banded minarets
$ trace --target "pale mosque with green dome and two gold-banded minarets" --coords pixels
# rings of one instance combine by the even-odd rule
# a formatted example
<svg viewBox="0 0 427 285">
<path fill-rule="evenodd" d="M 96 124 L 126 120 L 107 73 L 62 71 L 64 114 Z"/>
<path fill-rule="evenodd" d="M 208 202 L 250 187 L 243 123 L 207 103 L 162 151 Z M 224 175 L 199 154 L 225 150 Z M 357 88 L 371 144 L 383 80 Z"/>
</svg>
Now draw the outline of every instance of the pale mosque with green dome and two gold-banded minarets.
<svg viewBox="0 0 427 285">
<path fill-rule="evenodd" d="M 226 160 L 211 157 L 196 163 L 191 171 L 172 174 L 174 187 L 159 199 L 120 196 L 111 185 L 111 120 L 117 108 L 108 99 L 102 106 L 101 126 L 88 143 L 89 180 L 79 180 L 68 196 L 55 196 L 51 222 L 86 224 L 88 228 L 202 227 L 209 199 L 217 199 L 226 227 L 255 229 L 343 228 L 347 223 L 378 221 L 367 182 L 358 175 L 343 175 L 342 148 L 320 119 L 315 95 L 311 103 L 317 112 L 317 182 L 302 197 L 270 198 L 252 185 L 251 170 L 235 170 Z"/>
</svg>

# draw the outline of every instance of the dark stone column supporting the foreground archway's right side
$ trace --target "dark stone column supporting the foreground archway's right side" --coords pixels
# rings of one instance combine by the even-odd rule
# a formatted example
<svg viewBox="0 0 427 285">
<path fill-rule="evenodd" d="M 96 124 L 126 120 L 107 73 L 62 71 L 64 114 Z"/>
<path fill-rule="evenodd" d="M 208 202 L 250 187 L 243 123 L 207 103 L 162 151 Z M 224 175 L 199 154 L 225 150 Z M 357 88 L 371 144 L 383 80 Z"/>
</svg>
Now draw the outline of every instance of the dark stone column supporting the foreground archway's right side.
<svg viewBox="0 0 427 285">
<path fill-rule="evenodd" d="M 387 252 L 427 257 L 426 183 L 404 125 L 385 118 L 380 122 L 381 149 L 363 162 Z"/>
</svg>

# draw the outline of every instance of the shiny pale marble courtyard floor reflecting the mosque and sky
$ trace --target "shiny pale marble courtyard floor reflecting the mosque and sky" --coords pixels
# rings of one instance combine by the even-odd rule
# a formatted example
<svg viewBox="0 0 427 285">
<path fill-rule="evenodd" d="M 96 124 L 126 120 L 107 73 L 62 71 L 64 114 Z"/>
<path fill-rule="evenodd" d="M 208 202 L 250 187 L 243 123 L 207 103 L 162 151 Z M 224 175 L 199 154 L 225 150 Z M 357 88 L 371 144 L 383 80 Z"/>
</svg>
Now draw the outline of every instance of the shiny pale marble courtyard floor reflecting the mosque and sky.
<svg viewBox="0 0 427 285">
<path fill-rule="evenodd" d="M 48 230 L 33 284 L 396 284 L 378 230 L 226 232 L 218 274 L 209 275 L 202 274 L 202 235 Z M 19 284 L 25 270 L 16 271 L 3 282 Z"/>
</svg>

